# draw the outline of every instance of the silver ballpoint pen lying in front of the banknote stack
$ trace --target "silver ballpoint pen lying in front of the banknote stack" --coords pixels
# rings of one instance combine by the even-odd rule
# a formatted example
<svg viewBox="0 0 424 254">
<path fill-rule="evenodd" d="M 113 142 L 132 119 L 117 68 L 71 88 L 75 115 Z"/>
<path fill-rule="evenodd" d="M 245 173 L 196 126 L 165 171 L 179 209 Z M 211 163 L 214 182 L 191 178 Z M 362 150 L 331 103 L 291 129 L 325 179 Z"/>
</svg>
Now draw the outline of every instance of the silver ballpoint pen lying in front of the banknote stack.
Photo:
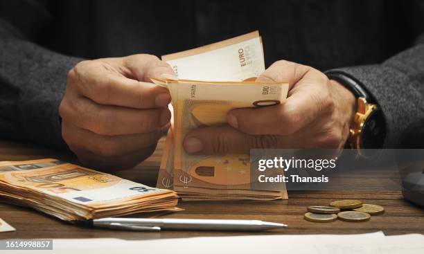
<svg viewBox="0 0 424 254">
<path fill-rule="evenodd" d="M 286 224 L 247 219 L 139 219 L 103 218 L 89 219 L 80 224 L 94 228 L 118 230 L 214 230 L 214 231 L 262 231 L 287 227 Z"/>
</svg>

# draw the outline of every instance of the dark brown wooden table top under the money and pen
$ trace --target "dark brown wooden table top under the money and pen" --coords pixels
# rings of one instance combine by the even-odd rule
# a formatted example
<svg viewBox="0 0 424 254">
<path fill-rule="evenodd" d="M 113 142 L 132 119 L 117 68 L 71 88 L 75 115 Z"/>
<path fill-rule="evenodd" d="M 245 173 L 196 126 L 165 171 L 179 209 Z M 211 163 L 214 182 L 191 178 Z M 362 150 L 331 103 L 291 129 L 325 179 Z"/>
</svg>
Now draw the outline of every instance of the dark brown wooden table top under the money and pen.
<svg viewBox="0 0 424 254">
<path fill-rule="evenodd" d="M 132 170 L 116 172 L 118 176 L 147 185 L 155 185 L 161 150 L 161 140 L 154 154 Z M 0 141 L 0 161 L 18 161 L 33 158 L 59 158 L 76 162 L 67 152 L 29 145 Z M 360 174 L 360 173 L 358 173 Z M 364 184 L 380 183 L 380 173 L 363 181 Z M 384 174 L 381 172 L 381 174 Z M 395 176 L 397 177 L 397 176 Z M 360 176 L 359 176 L 360 178 Z M 398 177 L 397 180 L 399 180 Z M 364 179 L 365 180 L 365 179 Z M 303 219 L 306 206 L 326 205 L 338 199 L 361 199 L 364 203 L 384 206 L 385 214 L 374 216 L 370 221 L 352 223 L 334 221 L 314 223 Z M 337 192 L 289 192 L 289 199 L 283 201 L 209 201 L 182 202 L 179 207 L 186 210 L 166 217 L 205 219 L 261 219 L 288 224 L 289 227 L 260 234 L 353 234 L 382 230 L 386 235 L 424 233 L 424 209 L 405 201 L 400 190 L 389 191 L 337 191 Z M 161 233 L 138 233 L 113 230 L 82 228 L 67 224 L 29 208 L 0 203 L 0 217 L 17 230 L 0 233 L 6 238 L 89 238 L 118 237 L 122 239 L 154 239 L 165 237 L 192 237 L 206 235 L 246 235 L 248 233 L 213 233 L 189 231 L 164 231 Z M 134 215 L 136 217 L 136 215 Z"/>
</svg>

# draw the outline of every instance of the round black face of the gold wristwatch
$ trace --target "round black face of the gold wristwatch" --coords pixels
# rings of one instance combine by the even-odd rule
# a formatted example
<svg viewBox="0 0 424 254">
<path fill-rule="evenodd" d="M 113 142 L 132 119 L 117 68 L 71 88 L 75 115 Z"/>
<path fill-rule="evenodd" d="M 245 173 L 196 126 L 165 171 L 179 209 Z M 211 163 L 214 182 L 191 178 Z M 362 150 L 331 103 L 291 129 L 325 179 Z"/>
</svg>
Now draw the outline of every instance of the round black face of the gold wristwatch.
<svg viewBox="0 0 424 254">
<path fill-rule="evenodd" d="M 381 110 L 373 111 L 362 127 L 360 144 L 364 149 L 379 149 L 386 138 L 385 118 Z M 364 151 L 366 152 L 366 151 Z"/>
</svg>

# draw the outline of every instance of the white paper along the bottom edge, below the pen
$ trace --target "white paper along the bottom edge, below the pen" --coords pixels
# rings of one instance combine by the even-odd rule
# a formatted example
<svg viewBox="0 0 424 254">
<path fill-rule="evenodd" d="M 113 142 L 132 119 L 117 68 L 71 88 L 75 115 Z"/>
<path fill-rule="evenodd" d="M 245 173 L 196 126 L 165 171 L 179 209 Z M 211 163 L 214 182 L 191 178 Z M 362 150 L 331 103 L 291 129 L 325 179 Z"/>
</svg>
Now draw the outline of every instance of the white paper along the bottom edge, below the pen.
<svg viewBox="0 0 424 254">
<path fill-rule="evenodd" d="M 28 253 L 13 251 L 13 253 Z M 31 251 L 45 253 L 45 251 Z M 424 253 L 424 236 L 385 236 L 381 231 L 358 235 L 251 235 L 188 237 L 130 241 L 114 238 L 54 239 L 49 253 L 319 253 L 415 254 Z"/>
</svg>

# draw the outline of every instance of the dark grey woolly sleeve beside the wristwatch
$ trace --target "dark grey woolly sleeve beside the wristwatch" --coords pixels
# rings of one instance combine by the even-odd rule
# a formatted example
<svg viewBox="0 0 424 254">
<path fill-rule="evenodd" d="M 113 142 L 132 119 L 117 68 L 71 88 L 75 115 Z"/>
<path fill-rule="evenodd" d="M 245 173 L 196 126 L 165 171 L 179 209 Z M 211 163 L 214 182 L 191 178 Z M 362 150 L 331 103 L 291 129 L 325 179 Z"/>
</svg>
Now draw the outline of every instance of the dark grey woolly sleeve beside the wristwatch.
<svg viewBox="0 0 424 254">
<path fill-rule="evenodd" d="M 385 147 L 424 145 L 424 33 L 381 64 L 336 69 L 359 80 L 385 116 Z"/>
</svg>

